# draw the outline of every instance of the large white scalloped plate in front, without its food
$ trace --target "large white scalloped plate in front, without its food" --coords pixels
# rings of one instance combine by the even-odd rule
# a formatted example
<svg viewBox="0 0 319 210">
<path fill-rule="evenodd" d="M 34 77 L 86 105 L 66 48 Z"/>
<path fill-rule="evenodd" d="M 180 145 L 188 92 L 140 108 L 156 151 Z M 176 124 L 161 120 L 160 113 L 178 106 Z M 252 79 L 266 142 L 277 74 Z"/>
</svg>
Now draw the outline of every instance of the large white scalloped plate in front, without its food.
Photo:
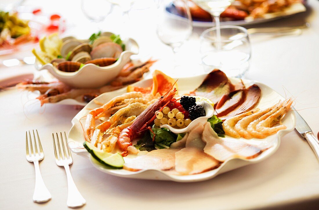
<svg viewBox="0 0 319 210">
<path fill-rule="evenodd" d="M 178 89 L 179 89 L 179 95 L 182 95 L 183 93 L 190 92 L 194 90 L 196 87 L 198 87 L 202 81 L 204 80 L 206 75 L 199 75 L 194 77 L 184 77 L 180 78 L 177 82 Z M 235 80 L 231 78 L 231 80 Z M 151 85 L 152 79 L 139 81 L 136 83 L 136 86 L 141 87 L 147 87 Z M 245 80 L 244 81 L 246 86 L 249 86 L 253 83 L 257 84 L 262 91 L 261 98 L 259 103 L 256 107 L 259 107 L 261 109 L 270 107 L 271 105 L 274 105 L 275 103 L 278 103 L 280 99 L 284 99 L 282 96 L 280 96 L 277 92 L 272 90 L 267 85 L 264 85 L 262 83 L 254 82 Z M 107 92 L 104 94 L 101 94 L 98 98 L 96 98 L 98 101 L 106 103 L 111 98 L 121 95 L 125 93 L 125 90 L 117 90 L 112 92 Z M 96 105 L 93 101 L 88 103 L 73 119 L 72 119 L 72 127 L 70 129 L 69 135 L 68 135 L 68 141 L 69 146 L 72 148 L 72 151 L 78 154 L 84 154 L 85 156 L 88 156 L 92 162 L 92 164 L 99 170 L 111 174 L 118 177 L 126 177 L 126 178 L 137 178 L 137 179 L 152 179 L 152 180 L 171 180 L 176 182 L 197 182 L 197 181 L 203 181 L 207 179 L 211 179 L 221 173 L 224 173 L 229 170 L 234 170 L 236 168 L 249 165 L 252 163 L 258 163 L 260 161 L 263 161 L 267 157 L 271 156 L 276 150 L 278 149 L 280 145 L 280 138 L 284 136 L 285 134 L 291 132 L 296 124 L 296 117 L 295 114 L 290 111 L 287 112 L 284 119 L 282 120 L 282 124 L 287 126 L 287 129 L 281 130 L 276 134 L 270 135 L 267 138 L 263 140 L 258 139 L 241 139 L 242 141 L 245 141 L 251 145 L 255 146 L 261 146 L 264 147 L 265 145 L 270 146 L 266 151 L 261 153 L 259 156 L 253 159 L 241 159 L 241 158 L 234 158 L 226 160 L 224 163 L 222 163 L 219 168 L 210 170 L 204 173 L 200 174 L 194 174 L 194 175 L 185 175 L 185 176 L 178 176 L 173 175 L 169 173 L 168 171 L 161 171 L 161 170 L 140 170 L 136 172 L 124 170 L 124 169 L 110 169 L 100 163 L 98 163 L 95 159 L 90 157 L 89 153 L 86 152 L 86 150 L 83 148 L 83 142 L 85 141 L 84 135 L 83 135 L 83 129 L 80 123 L 83 123 L 83 117 L 87 115 L 90 109 L 96 108 L 98 105 Z M 230 137 L 231 138 L 231 137 Z M 144 152 L 140 152 L 139 154 L 145 154 Z M 135 155 L 129 155 L 127 157 L 124 157 L 124 160 L 127 158 L 136 157 Z"/>
</svg>

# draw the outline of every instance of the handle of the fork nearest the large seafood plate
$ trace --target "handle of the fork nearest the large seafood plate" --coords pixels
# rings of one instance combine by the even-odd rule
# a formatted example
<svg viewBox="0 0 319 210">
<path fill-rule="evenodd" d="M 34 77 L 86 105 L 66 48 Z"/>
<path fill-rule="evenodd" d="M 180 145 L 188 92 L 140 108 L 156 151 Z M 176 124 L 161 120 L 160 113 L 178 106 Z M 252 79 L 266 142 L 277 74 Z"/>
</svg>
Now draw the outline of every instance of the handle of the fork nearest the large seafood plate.
<svg viewBox="0 0 319 210">
<path fill-rule="evenodd" d="M 83 206 L 86 201 L 82 197 L 81 193 L 78 191 L 77 186 L 75 186 L 75 183 L 71 176 L 69 165 L 64 165 L 64 169 L 66 172 L 66 177 L 68 179 L 68 200 L 66 202 L 66 205 L 71 208 Z"/>
</svg>

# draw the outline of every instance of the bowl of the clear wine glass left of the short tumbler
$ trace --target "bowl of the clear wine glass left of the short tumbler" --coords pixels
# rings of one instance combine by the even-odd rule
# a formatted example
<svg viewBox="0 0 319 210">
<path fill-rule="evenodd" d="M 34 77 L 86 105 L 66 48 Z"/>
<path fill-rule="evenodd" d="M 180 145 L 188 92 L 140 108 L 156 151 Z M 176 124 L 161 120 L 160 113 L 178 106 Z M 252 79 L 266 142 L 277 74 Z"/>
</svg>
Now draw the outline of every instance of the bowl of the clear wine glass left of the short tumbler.
<svg viewBox="0 0 319 210">
<path fill-rule="evenodd" d="M 157 17 L 157 36 L 164 44 L 172 48 L 174 57 L 178 49 L 189 39 L 193 31 L 189 6 L 185 0 L 182 2 L 185 10 L 181 12 L 180 16 L 168 13 L 166 11 L 167 1 L 163 1 L 159 5 Z"/>
</svg>

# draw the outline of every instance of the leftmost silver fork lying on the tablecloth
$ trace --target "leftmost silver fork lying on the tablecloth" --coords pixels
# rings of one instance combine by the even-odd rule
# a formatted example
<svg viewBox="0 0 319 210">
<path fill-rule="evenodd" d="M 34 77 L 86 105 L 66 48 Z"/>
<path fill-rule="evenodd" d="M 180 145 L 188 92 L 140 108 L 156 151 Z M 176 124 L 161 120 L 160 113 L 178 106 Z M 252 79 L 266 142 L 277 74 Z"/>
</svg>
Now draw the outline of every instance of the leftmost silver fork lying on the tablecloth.
<svg viewBox="0 0 319 210">
<path fill-rule="evenodd" d="M 30 142 L 30 152 L 31 152 L 31 155 L 30 155 L 29 145 L 28 145 L 28 132 L 26 131 L 26 159 L 29 162 L 33 162 L 34 168 L 35 168 L 35 187 L 34 187 L 34 193 L 33 193 L 33 201 L 37 203 L 42 203 L 42 202 L 46 202 L 50 200 L 51 194 L 43 182 L 40 168 L 39 168 L 39 161 L 43 160 L 44 153 L 43 153 L 40 137 L 38 134 L 38 130 L 36 130 L 36 132 L 37 132 L 37 137 L 39 142 L 40 153 L 38 152 L 37 141 L 35 140 L 35 134 L 33 130 L 33 142 L 34 142 L 35 153 L 33 153 L 33 144 L 32 144 L 31 134 L 29 131 L 29 142 Z"/>
</svg>

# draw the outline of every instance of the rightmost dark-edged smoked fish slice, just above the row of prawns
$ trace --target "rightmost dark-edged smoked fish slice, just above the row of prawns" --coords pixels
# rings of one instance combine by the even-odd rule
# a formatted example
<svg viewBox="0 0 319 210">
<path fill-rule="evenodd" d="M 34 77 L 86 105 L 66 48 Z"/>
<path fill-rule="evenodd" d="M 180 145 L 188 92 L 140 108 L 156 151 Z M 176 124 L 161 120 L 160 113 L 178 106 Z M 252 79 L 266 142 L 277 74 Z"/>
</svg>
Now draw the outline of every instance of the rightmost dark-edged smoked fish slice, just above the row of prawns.
<svg viewBox="0 0 319 210">
<path fill-rule="evenodd" d="M 244 93 L 243 100 L 240 99 L 240 97 L 237 97 L 234 99 L 232 99 L 232 97 L 229 97 L 229 100 L 225 101 L 225 103 L 221 107 L 218 106 L 219 109 L 216 109 L 217 117 L 219 117 L 222 120 L 225 120 L 227 118 L 233 117 L 235 115 L 238 115 L 244 112 L 248 112 L 251 109 L 253 109 L 256 106 L 256 104 L 259 102 L 259 98 L 261 95 L 261 90 L 259 86 L 256 84 L 253 84 L 249 88 L 244 89 L 243 93 Z M 231 94 L 232 93 L 229 93 L 229 95 Z M 228 107 L 228 109 L 226 106 Z"/>
</svg>

